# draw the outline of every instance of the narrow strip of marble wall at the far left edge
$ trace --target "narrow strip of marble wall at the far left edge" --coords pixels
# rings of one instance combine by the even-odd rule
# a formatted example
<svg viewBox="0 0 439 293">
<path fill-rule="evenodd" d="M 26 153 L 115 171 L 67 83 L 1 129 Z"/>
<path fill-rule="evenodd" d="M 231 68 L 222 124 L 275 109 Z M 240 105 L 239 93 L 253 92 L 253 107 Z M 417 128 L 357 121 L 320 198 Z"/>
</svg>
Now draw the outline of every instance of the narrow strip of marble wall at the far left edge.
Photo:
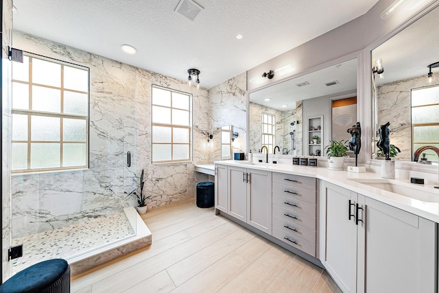
<svg viewBox="0 0 439 293">
<path fill-rule="evenodd" d="M 8 60 L 10 46 L 10 30 L 12 29 L 12 1 L 2 1 L 1 25 L 1 281 L 4 282 L 12 274 L 11 263 L 8 262 L 8 249 L 12 243 L 11 231 L 11 177 L 10 177 L 10 141 L 11 134 L 11 62 Z"/>
</svg>

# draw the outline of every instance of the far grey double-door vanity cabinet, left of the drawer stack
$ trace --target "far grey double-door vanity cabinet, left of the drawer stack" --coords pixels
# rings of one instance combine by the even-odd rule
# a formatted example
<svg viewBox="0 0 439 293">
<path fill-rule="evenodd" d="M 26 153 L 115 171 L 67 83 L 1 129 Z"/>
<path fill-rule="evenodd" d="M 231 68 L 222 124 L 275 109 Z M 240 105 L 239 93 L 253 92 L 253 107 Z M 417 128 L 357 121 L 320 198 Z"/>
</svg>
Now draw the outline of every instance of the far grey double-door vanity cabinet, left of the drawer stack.
<svg viewBox="0 0 439 293">
<path fill-rule="evenodd" d="M 227 168 L 227 214 L 271 235 L 272 173 L 236 166 Z"/>
</svg>

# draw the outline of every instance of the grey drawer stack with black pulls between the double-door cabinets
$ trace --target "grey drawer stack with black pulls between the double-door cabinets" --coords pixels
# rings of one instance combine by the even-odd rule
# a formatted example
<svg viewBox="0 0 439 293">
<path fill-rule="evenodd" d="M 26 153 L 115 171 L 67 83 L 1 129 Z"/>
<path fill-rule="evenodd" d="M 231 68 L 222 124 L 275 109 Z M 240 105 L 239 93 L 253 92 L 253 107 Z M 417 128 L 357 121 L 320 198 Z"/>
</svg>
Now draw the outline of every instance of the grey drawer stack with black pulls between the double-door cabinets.
<svg viewBox="0 0 439 293">
<path fill-rule="evenodd" d="M 273 173 L 272 235 L 316 257 L 316 179 Z"/>
</svg>

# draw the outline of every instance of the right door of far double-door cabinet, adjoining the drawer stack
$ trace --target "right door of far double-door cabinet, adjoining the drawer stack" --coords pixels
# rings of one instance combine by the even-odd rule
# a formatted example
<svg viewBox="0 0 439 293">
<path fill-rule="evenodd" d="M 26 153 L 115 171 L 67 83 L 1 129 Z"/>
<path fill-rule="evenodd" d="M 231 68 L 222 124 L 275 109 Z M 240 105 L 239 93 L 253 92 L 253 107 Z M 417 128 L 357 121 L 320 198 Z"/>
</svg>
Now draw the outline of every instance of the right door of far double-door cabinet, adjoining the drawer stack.
<svg viewBox="0 0 439 293">
<path fill-rule="evenodd" d="M 247 169 L 247 222 L 253 227 L 272 233 L 272 173 Z"/>
</svg>

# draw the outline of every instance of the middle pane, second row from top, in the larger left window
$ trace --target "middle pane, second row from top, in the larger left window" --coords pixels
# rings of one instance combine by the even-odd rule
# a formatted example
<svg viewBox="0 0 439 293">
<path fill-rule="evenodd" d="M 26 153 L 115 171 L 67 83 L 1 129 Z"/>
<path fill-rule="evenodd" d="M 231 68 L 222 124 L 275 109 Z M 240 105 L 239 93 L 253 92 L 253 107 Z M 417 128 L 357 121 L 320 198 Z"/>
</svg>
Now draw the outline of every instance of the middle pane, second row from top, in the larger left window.
<svg viewBox="0 0 439 293">
<path fill-rule="evenodd" d="M 61 90 L 32 86 L 32 110 L 61 112 Z"/>
</svg>

